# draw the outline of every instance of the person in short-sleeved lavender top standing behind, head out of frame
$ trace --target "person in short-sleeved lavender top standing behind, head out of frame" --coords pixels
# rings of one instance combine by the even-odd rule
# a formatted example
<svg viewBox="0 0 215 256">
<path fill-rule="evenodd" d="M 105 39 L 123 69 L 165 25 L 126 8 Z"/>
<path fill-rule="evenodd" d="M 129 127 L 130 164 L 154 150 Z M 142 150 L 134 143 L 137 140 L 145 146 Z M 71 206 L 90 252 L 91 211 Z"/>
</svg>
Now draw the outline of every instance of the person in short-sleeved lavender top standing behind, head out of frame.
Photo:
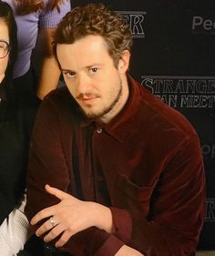
<svg viewBox="0 0 215 256">
<path fill-rule="evenodd" d="M 13 8 L 17 24 L 18 53 L 14 68 L 14 83 L 19 97 L 40 99 L 57 87 L 60 71 L 52 55 L 52 33 L 58 22 L 70 10 L 69 0 L 5 0 Z M 36 65 L 32 51 L 36 46 Z M 39 61 L 38 61 L 39 60 Z M 32 97 L 33 96 L 33 97 Z"/>
</svg>

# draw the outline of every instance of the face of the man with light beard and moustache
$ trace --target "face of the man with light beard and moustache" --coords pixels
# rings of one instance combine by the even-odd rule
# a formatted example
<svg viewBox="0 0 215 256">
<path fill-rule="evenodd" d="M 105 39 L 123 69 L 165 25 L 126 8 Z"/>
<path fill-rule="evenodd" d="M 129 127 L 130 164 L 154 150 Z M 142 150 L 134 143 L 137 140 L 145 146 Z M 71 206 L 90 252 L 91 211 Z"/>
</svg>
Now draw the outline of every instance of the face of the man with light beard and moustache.
<svg viewBox="0 0 215 256">
<path fill-rule="evenodd" d="M 68 90 L 87 117 L 103 122 L 114 118 L 128 99 L 128 52 L 115 67 L 104 39 L 86 36 L 57 45 L 56 53 Z"/>
</svg>

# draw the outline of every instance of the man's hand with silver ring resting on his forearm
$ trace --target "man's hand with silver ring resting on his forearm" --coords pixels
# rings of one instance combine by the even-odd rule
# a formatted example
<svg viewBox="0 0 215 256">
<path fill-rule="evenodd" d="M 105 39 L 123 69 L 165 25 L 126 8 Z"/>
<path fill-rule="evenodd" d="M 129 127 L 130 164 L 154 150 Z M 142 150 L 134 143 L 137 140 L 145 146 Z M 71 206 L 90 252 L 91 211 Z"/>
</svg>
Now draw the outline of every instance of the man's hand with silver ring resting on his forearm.
<svg viewBox="0 0 215 256">
<path fill-rule="evenodd" d="M 54 206 L 40 210 L 31 220 L 31 224 L 36 225 L 40 220 L 49 218 L 36 230 L 37 236 L 46 233 L 44 241 L 52 241 L 61 234 L 59 240 L 56 241 L 56 247 L 62 247 L 71 236 L 93 226 L 111 232 L 112 214 L 107 207 L 96 202 L 77 200 L 49 185 L 46 185 L 45 189 L 61 201 Z M 50 220 L 51 217 L 53 223 Z"/>
</svg>

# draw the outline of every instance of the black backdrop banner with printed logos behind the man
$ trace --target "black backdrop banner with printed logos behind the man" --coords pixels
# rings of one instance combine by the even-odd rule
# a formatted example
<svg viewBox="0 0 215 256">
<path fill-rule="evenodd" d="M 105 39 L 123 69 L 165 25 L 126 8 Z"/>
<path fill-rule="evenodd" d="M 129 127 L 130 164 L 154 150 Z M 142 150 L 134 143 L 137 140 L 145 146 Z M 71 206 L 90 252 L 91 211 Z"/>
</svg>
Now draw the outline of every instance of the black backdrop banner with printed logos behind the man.
<svg viewBox="0 0 215 256">
<path fill-rule="evenodd" d="M 72 1 L 104 3 L 128 22 L 134 38 L 130 73 L 177 108 L 200 136 L 207 181 L 200 249 L 215 249 L 215 1 Z"/>
</svg>

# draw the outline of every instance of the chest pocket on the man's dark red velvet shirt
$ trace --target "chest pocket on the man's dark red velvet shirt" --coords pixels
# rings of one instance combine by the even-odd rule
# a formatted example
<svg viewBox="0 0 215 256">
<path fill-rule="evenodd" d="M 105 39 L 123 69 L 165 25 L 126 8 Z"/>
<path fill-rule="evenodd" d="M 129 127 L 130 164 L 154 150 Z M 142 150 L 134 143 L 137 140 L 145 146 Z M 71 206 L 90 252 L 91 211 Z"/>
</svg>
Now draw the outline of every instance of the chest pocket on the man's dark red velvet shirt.
<svg viewBox="0 0 215 256">
<path fill-rule="evenodd" d="M 119 174 L 117 180 L 117 207 L 127 209 L 132 214 L 148 217 L 150 199 L 157 184 L 157 180 L 148 187 L 139 187 L 128 177 Z"/>
</svg>

